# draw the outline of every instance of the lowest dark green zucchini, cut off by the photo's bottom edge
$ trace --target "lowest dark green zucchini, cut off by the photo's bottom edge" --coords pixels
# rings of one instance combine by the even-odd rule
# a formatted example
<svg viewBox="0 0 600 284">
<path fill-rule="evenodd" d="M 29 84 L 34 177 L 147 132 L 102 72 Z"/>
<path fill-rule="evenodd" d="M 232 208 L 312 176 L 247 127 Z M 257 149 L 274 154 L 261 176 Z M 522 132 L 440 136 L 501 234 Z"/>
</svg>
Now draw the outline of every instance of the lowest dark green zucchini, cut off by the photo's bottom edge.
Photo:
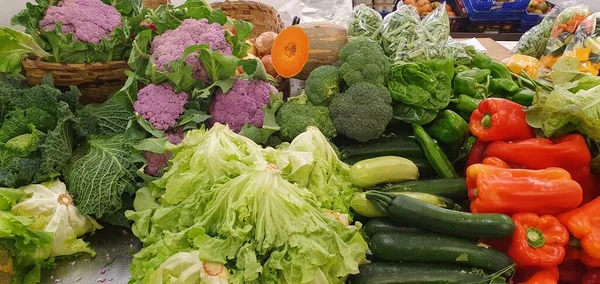
<svg viewBox="0 0 600 284">
<path fill-rule="evenodd" d="M 360 274 L 350 276 L 350 284 L 506 283 L 502 277 L 493 279 L 481 271 L 461 265 L 372 262 L 359 266 L 359 270 Z"/>
</svg>

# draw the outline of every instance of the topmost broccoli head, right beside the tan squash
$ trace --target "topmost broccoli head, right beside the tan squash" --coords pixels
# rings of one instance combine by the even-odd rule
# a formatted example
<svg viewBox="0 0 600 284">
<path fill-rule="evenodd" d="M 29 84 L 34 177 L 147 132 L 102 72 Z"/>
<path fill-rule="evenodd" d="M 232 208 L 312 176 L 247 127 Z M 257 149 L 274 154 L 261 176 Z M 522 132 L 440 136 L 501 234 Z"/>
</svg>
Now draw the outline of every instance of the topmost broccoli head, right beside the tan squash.
<svg viewBox="0 0 600 284">
<path fill-rule="evenodd" d="M 339 57 L 340 74 L 348 86 L 359 82 L 383 85 L 392 70 L 379 44 L 365 37 L 351 39 L 340 50 Z"/>
</svg>

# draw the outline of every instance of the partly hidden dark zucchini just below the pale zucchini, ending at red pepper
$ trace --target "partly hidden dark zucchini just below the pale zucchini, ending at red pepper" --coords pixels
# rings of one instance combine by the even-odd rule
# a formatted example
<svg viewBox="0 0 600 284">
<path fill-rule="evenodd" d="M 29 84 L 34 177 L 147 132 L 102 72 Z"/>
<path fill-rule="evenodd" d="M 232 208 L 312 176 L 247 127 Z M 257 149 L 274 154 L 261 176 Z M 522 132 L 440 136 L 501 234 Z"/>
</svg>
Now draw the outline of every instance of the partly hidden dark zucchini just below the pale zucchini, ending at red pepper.
<svg viewBox="0 0 600 284">
<path fill-rule="evenodd" d="M 369 190 L 387 192 L 423 192 L 450 198 L 454 201 L 464 201 L 468 198 L 465 178 L 416 180 L 401 183 L 380 185 Z"/>
</svg>

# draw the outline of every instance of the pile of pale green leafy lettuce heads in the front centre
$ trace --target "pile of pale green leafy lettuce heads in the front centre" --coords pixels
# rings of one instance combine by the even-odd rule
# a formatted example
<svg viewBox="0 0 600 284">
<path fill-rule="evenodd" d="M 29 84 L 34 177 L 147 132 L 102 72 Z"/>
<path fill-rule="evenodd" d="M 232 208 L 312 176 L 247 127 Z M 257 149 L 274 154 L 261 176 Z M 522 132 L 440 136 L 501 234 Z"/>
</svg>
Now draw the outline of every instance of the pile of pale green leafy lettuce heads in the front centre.
<svg viewBox="0 0 600 284">
<path fill-rule="evenodd" d="M 199 276 L 182 269 L 201 262 L 224 265 L 232 283 L 343 283 L 358 273 L 367 250 L 358 228 L 321 207 L 341 207 L 356 190 L 335 183 L 348 184 L 347 165 L 317 128 L 282 149 L 263 149 L 215 124 L 167 147 L 168 171 L 138 190 L 136 211 L 126 213 L 144 242 L 131 283 L 189 283 Z M 186 260 L 169 264 L 177 259 Z"/>
</svg>

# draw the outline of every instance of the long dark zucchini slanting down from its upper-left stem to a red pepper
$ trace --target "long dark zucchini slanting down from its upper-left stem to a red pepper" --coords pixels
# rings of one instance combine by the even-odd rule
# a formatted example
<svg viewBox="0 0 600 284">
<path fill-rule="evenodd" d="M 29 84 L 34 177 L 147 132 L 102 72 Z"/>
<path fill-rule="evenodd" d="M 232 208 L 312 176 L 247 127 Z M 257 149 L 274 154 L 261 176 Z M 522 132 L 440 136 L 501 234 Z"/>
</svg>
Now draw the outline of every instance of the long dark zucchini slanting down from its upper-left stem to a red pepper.
<svg viewBox="0 0 600 284">
<path fill-rule="evenodd" d="M 504 214 L 471 214 L 440 208 L 390 192 L 369 191 L 368 200 L 402 224 L 428 231 L 472 239 L 500 239 L 512 234 L 515 224 Z"/>
</svg>

